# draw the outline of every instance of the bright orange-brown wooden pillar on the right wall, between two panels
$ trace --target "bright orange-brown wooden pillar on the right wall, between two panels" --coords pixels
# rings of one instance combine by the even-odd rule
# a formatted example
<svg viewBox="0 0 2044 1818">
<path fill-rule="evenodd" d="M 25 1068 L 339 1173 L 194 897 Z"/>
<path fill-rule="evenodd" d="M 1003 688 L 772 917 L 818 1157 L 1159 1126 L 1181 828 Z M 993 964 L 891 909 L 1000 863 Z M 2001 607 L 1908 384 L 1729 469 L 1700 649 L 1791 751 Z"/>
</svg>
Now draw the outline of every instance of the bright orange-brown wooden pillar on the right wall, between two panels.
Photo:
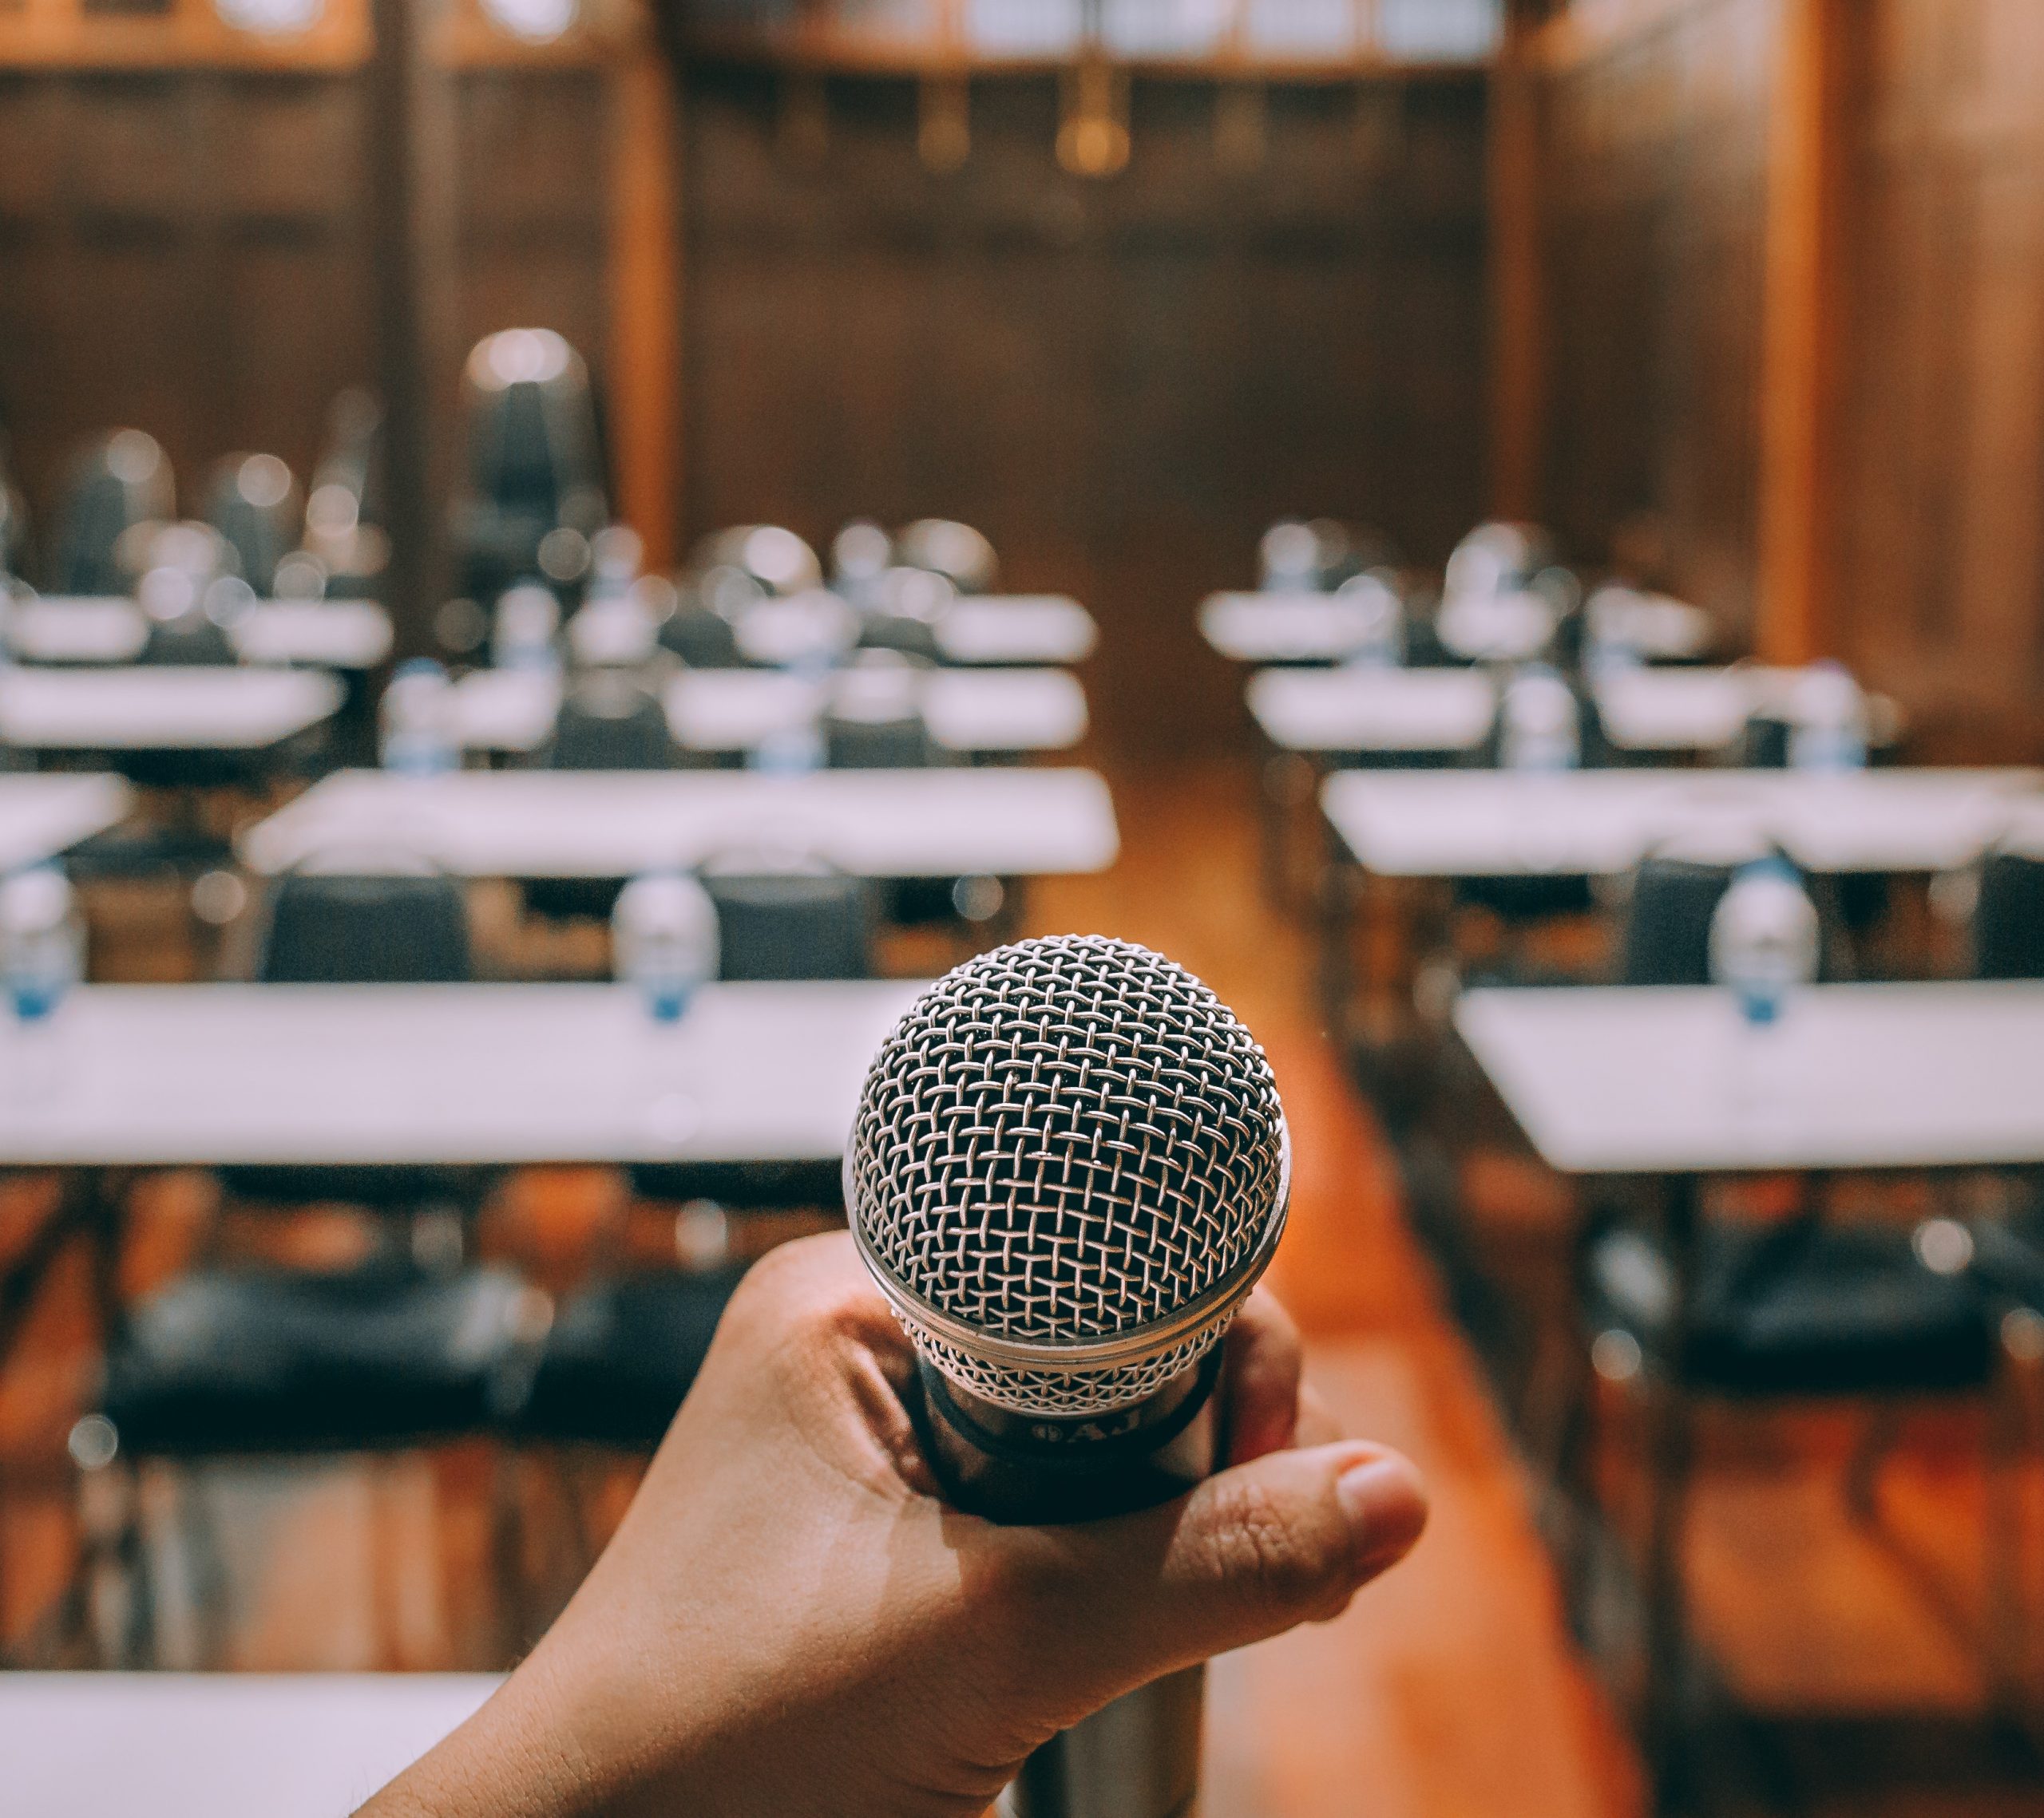
<svg viewBox="0 0 2044 1818">
<path fill-rule="evenodd" d="M 1827 552 L 1842 321 L 1840 198 L 1848 10 L 1778 0 L 1768 102 L 1760 343 L 1760 596 L 1770 662 L 1836 648 Z"/>
</svg>

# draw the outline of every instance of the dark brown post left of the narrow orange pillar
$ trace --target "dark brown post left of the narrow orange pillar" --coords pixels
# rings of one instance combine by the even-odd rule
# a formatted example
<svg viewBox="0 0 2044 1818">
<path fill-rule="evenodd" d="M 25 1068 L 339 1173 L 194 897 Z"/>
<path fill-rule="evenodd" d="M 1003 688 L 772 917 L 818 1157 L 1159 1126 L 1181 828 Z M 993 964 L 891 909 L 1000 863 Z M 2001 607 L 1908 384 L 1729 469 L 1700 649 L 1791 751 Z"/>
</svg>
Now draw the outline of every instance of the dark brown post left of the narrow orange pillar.
<svg viewBox="0 0 2044 1818">
<path fill-rule="evenodd" d="M 384 406 L 390 566 L 384 605 L 399 656 L 431 650 L 446 596 L 454 347 L 454 121 L 429 47 L 431 8 L 372 0 L 370 247 L 376 378 Z"/>
</svg>

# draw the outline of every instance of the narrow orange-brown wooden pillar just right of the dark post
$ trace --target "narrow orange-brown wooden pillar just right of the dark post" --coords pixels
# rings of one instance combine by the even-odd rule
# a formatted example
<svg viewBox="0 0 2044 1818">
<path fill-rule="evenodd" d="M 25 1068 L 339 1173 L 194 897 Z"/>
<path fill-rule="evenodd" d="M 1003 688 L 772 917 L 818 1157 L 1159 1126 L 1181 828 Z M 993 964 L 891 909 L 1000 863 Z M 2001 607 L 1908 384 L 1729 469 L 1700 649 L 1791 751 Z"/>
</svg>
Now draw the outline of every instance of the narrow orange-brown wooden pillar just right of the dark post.
<svg viewBox="0 0 2044 1818">
<path fill-rule="evenodd" d="M 679 74 L 652 33 L 611 80 L 609 419 L 617 515 L 648 570 L 681 558 Z"/>
</svg>

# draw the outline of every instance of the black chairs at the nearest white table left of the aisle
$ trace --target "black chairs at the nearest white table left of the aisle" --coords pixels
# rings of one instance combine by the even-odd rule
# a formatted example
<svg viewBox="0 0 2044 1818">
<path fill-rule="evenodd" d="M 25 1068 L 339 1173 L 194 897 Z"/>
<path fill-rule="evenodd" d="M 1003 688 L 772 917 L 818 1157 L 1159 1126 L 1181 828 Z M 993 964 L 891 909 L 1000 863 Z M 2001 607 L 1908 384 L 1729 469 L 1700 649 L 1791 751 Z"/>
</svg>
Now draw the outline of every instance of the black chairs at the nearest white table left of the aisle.
<svg viewBox="0 0 2044 1818">
<path fill-rule="evenodd" d="M 861 978 L 873 970 L 871 887 L 822 864 L 730 854 L 703 866 L 724 978 Z M 466 899 L 429 870 L 276 880 L 256 976 L 268 983 L 464 983 Z M 515 1269 L 474 1260 L 495 1187 L 484 1170 L 262 1166 L 219 1173 L 223 1211 L 352 1205 L 378 1226 L 368 1260 L 305 1273 L 211 1256 L 108 1309 L 100 1393 L 74 1432 L 88 1473 L 86 1587 L 125 1585 L 106 1646 L 147 1659 L 149 1550 L 137 1473 L 208 1458 L 397 1452 L 462 1436 L 515 1448 L 650 1450 L 707 1350 L 742 1269 L 730 1217 L 842 1211 L 834 1164 L 648 1164 L 638 1201 L 668 1209 L 695 1266 L 630 1269 L 621 1242 L 558 1305 Z M 705 1238 L 707 1234 L 707 1238 Z M 744 1248 L 740 1244 L 740 1248 Z M 106 1497 L 117 1479 L 125 1493 Z M 110 1508 L 110 1514 L 108 1514 Z M 515 1597 L 515 1587 L 505 1587 Z"/>
</svg>

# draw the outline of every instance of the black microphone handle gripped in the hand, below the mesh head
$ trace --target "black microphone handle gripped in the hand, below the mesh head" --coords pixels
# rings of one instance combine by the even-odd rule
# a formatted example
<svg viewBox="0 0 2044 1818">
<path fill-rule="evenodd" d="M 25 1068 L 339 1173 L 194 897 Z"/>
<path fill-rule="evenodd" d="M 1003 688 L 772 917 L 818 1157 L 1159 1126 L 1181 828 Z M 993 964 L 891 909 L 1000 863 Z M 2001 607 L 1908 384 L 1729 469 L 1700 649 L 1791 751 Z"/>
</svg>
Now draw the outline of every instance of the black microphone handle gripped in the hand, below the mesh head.
<svg viewBox="0 0 2044 1818">
<path fill-rule="evenodd" d="M 1004 1524 L 1096 1522 L 1183 1495 L 1220 1463 L 1216 1346 L 1112 1416 L 1012 1414 L 922 1365 L 924 1446 L 953 1508 Z M 1000 1818 L 1190 1818 L 1200 1798 L 1206 1667 L 1186 1667 L 1053 1736 Z"/>
</svg>

